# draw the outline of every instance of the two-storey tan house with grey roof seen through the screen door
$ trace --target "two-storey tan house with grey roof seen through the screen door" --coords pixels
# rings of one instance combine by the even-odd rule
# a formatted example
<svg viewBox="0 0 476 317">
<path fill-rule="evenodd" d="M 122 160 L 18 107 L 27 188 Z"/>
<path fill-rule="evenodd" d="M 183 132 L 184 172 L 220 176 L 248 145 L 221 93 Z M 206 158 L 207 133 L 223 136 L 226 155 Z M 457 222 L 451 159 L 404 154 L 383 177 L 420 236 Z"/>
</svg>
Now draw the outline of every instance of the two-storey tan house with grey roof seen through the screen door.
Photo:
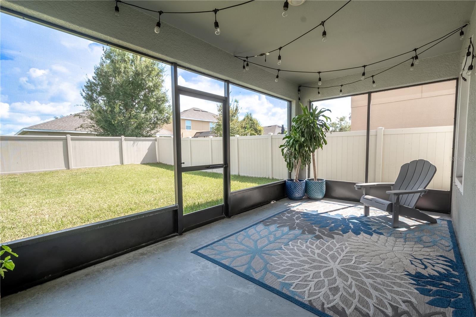
<svg viewBox="0 0 476 317">
<path fill-rule="evenodd" d="M 217 122 L 217 115 L 202 109 L 190 108 L 180 112 L 180 136 L 195 137 L 197 132 L 211 131 Z M 172 131 L 172 124 L 166 124 L 165 130 Z"/>
</svg>

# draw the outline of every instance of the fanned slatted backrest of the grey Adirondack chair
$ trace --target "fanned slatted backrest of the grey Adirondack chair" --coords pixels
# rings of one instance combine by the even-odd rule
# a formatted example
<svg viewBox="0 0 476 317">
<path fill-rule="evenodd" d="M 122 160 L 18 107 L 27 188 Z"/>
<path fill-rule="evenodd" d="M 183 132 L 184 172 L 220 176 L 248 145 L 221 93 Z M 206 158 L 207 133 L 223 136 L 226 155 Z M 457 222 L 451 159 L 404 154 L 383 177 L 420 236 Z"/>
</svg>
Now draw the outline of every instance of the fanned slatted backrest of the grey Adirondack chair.
<svg viewBox="0 0 476 317">
<path fill-rule="evenodd" d="M 411 161 L 402 165 L 392 189 L 412 190 L 426 188 L 435 173 L 436 167 L 431 162 L 424 159 Z M 420 194 L 401 195 L 399 202 L 400 205 L 414 208 L 419 197 Z"/>
</svg>

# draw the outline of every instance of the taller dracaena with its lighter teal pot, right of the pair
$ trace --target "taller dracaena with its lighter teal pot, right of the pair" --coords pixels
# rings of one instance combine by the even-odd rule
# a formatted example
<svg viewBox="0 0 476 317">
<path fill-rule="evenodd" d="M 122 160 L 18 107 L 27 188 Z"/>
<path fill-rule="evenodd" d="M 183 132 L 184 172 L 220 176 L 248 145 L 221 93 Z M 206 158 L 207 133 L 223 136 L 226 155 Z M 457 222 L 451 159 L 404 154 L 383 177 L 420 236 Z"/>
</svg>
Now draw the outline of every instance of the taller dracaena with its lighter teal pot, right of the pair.
<svg viewBox="0 0 476 317">
<path fill-rule="evenodd" d="M 326 180 L 317 178 L 316 150 L 322 149 L 327 144 L 326 132 L 329 130 L 327 121 L 330 121 L 330 118 L 324 113 L 330 110 L 317 110 L 314 105 L 311 105 L 311 109 L 308 110 L 301 103 L 299 105 L 303 113 L 296 116 L 293 122 L 297 129 L 301 130 L 301 134 L 305 136 L 307 151 L 311 153 L 314 172 L 314 178 L 306 179 L 306 194 L 311 199 L 322 199 L 326 193 Z"/>
</svg>

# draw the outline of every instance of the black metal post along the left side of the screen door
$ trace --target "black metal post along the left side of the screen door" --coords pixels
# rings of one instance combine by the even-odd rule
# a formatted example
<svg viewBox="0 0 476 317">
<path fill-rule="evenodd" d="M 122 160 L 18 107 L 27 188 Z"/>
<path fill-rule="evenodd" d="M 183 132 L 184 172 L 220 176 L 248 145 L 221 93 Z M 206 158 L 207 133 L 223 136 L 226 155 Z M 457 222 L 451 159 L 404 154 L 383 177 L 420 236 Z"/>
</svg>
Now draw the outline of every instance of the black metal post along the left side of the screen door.
<svg viewBox="0 0 476 317">
<path fill-rule="evenodd" d="M 178 93 L 177 63 L 170 69 L 172 79 L 172 130 L 174 138 L 175 204 L 177 209 L 177 233 L 183 231 L 183 191 L 182 191 L 182 139 L 180 135 L 180 95 Z"/>
</svg>

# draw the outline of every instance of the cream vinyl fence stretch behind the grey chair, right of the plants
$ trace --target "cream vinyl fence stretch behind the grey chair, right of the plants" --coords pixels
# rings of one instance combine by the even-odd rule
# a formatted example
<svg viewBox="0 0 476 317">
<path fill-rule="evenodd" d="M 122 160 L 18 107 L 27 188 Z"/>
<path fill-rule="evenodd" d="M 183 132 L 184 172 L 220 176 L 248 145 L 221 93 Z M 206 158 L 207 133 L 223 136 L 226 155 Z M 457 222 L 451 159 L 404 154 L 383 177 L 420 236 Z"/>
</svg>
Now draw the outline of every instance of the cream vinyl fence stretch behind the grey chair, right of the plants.
<svg viewBox="0 0 476 317">
<path fill-rule="evenodd" d="M 370 130 L 368 181 L 394 182 L 400 167 L 423 158 L 436 166 L 428 188 L 449 190 L 453 126 Z M 317 150 L 317 177 L 365 181 L 366 132 L 327 134 L 327 146 Z M 311 167 L 310 175 L 313 175 Z"/>
</svg>

